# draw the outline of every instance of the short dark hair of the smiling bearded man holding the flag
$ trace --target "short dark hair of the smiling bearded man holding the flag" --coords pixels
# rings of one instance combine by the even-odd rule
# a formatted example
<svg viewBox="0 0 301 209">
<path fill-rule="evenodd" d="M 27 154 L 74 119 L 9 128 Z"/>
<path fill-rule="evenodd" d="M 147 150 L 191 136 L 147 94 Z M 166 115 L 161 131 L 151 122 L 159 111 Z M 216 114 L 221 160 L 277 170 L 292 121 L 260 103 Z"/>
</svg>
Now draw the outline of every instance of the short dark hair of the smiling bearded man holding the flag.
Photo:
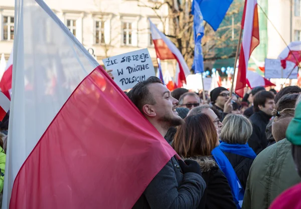
<svg viewBox="0 0 301 209">
<path fill-rule="evenodd" d="M 147 86 L 149 84 L 161 83 L 161 80 L 155 76 L 149 77 L 145 81 L 137 83 L 130 92 L 127 93 L 128 98 L 134 103 L 134 105 L 142 112 L 142 107 L 145 104 L 156 104 L 155 99 L 149 93 Z M 143 112 L 142 112 L 143 113 Z"/>
</svg>

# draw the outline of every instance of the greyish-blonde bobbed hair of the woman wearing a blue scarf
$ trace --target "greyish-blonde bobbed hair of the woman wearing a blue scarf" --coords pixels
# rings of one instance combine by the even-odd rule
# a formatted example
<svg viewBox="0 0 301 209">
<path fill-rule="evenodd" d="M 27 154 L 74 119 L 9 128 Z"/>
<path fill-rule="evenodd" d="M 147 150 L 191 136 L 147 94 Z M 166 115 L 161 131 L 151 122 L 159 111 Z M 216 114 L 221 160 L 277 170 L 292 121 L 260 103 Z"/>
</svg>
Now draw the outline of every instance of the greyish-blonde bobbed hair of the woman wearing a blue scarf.
<svg viewBox="0 0 301 209">
<path fill-rule="evenodd" d="M 223 120 L 220 138 L 229 144 L 246 144 L 252 131 L 252 123 L 248 118 L 243 115 L 228 114 Z"/>
</svg>

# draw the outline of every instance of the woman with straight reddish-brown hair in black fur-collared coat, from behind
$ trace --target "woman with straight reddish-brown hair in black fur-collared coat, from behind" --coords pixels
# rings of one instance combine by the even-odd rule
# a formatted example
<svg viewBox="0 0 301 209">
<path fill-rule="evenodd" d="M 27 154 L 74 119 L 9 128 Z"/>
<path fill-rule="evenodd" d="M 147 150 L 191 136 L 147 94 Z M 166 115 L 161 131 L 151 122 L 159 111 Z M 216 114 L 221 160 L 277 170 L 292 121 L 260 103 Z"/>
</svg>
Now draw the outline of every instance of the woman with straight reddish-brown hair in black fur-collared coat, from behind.
<svg viewBox="0 0 301 209">
<path fill-rule="evenodd" d="M 204 113 L 188 116 L 178 127 L 172 146 L 184 159 L 196 160 L 202 168 L 206 189 L 199 209 L 236 209 L 227 178 L 211 156 L 219 144 L 216 128 Z"/>
</svg>

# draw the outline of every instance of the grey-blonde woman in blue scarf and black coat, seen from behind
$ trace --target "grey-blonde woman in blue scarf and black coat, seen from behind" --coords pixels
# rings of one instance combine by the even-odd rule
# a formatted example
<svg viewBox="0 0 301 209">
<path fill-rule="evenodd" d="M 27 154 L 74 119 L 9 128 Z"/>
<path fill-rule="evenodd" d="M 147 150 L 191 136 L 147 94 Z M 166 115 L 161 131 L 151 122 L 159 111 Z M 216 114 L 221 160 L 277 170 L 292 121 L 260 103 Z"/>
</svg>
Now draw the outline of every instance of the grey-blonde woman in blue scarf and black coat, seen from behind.
<svg viewBox="0 0 301 209">
<path fill-rule="evenodd" d="M 252 124 L 248 118 L 237 114 L 228 114 L 223 124 L 219 148 L 229 159 L 241 186 L 245 189 L 250 167 L 256 157 L 253 149 L 247 144 L 252 134 Z"/>
</svg>

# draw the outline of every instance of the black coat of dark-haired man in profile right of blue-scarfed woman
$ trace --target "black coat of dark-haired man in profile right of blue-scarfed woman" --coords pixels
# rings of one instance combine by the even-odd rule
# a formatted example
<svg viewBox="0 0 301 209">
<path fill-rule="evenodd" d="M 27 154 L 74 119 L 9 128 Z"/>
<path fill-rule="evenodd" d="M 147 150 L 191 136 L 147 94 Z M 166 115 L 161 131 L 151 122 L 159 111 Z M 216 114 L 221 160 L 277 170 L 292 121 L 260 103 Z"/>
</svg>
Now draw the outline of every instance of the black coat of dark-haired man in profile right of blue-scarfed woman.
<svg viewBox="0 0 301 209">
<path fill-rule="evenodd" d="M 248 140 L 249 146 L 258 155 L 267 146 L 267 139 L 265 136 L 265 128 L 271 116 L 259 111 L 255 112 L 249 119 L 252 122 L 253 132 Z"/>
</svg>

